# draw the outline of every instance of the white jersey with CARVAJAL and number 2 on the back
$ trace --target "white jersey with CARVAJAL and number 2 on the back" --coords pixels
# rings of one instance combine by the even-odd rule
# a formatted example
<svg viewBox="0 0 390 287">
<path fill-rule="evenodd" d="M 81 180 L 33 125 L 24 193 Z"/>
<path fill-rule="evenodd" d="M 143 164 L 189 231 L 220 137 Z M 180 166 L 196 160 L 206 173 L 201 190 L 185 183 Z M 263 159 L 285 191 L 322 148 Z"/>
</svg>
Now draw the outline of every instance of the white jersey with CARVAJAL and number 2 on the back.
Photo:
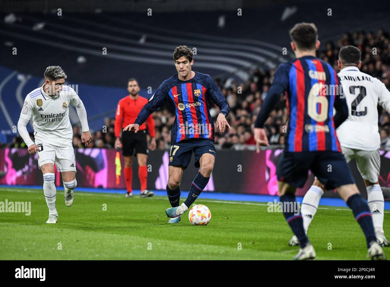
<svg viewBox="0 0 390 287">
<path fill-rule="evenodd" d="M 390 112 L 390 92 L 377 78 L 357 67 L 349 66 L 338 73 L 348 105 L 348 118 L 337 128 L 340 145 L 358 150 L 377 150 L 378 103 Z"/>
</svg>

